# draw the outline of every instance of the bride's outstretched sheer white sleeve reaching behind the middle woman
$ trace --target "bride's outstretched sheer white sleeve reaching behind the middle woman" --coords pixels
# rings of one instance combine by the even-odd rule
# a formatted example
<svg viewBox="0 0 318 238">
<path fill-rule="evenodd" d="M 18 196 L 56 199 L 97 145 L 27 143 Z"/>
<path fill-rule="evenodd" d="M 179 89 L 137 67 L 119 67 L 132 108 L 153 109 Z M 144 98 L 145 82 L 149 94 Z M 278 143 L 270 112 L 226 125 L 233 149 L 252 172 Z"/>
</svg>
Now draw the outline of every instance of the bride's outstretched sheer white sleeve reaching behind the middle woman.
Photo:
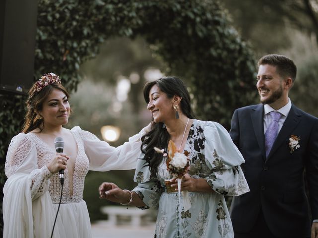
<svg viewBox="0 0 318 238">
<path fill-rule="evenodd" d="M 83 140 L 85 153 L 89 159 L 90 170 L 130 170 L 136 168 L 137 158 L 140 156 L 141 137 L 144 129 L 130 137 L 128 142 L 118 147 L 110 146 L 101 141 L 94 134 L 82 130 L 79 126 L 72 129 L 79 133 Z"/>
</svg>

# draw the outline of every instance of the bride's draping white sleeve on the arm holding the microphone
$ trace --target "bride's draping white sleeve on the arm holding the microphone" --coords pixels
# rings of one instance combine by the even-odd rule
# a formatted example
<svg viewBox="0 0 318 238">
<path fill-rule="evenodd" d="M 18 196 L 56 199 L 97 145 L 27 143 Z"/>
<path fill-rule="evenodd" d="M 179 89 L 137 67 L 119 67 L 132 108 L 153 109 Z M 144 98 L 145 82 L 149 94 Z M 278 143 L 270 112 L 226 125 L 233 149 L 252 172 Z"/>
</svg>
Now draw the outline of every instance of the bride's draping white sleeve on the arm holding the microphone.
<svg viewBox="0 0 318 238">
<path fill-rule="evenodd" d="M 38 169 L 37 151 L 27 135 L 20 133 L 12 139 L 5 174 L 8 179 L 3 188 L 3 236 L 50 237 L 54 222 L 48 192 L 51 173 L 46 166 Z M 59 233 L 54 237 L 60 237 Z"/>
</svg>

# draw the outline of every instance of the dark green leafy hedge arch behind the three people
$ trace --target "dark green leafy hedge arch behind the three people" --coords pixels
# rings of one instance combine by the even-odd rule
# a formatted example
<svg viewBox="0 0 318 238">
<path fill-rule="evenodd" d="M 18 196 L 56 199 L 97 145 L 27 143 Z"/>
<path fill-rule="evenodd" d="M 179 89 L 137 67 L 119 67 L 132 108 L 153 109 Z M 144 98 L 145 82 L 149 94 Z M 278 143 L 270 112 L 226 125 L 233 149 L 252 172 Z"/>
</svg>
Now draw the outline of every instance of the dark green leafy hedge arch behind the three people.
<svg viewBox="0 0 318 238">
<path fill-rule="evenodd" d="M 141 35 L 168 65 L 166 74 L 191 82 L 201 119 L 229 128 L 233 110 L 255 100 L 253 53 L 217 0 L 39 0 L 37 24 L 35 78 L 54 72 L 71 91 L 80 65 L 98 54 L 101 42 Z M 21 128 L 22 101 L 1 96 L 2 164 Z"/>
</svg>

